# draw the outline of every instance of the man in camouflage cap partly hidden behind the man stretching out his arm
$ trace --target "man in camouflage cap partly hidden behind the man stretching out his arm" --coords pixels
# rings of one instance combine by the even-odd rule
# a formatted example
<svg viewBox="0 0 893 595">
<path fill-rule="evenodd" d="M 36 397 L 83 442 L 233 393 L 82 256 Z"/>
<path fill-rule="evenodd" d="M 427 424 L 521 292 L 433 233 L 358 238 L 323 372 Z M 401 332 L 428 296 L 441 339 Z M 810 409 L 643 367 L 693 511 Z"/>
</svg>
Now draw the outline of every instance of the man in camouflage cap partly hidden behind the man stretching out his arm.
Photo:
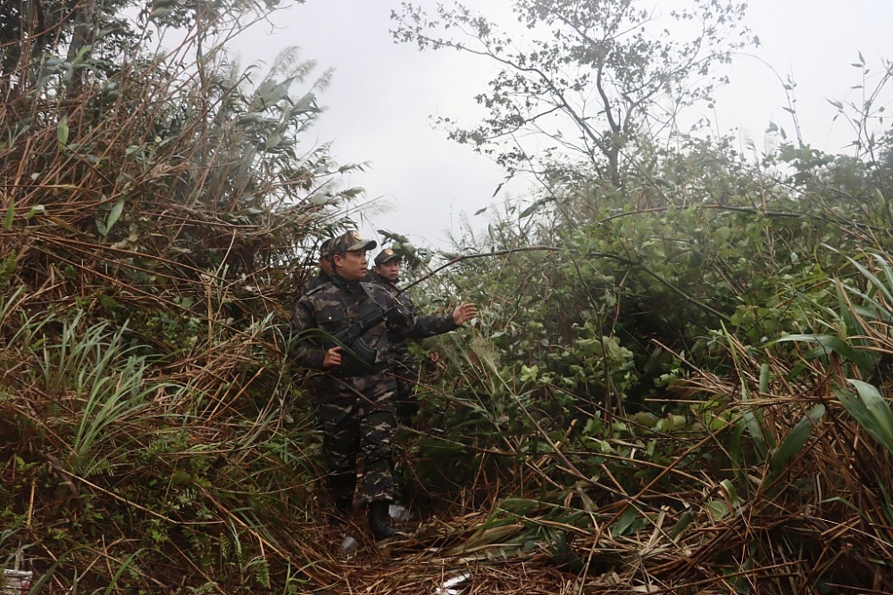
<svg viewBox="0 0 893 595">
<path fill-rule="evenodd" d="M 417 312 L 413 299 L 409 293 L 401 293 L 396 286 L 400 278 L 400 263 L 403 258 L 387 248 L 375 257 L 375 267 L 372 269 L 372 281 L 381 285 L 388 293 L 396 297 L 408 310 Z M 415 400 L 415 386 L 421 379 L 419 362 L 409 343 L 400 335 L 388 336 L 391 346 L 391 369 L 396 379 L 396 414 L 397 419 L 406 423 L 418 412 L 419 401 Z"/>
</svg>

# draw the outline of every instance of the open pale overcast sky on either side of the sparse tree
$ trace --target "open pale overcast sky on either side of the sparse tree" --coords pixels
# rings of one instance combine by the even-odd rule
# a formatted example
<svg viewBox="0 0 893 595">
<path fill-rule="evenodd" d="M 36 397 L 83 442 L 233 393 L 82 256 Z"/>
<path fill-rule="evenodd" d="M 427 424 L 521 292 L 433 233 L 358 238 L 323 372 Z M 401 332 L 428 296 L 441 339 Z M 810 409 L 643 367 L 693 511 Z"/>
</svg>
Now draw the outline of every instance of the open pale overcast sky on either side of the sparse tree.
<svg viewBox="0 0 893 595">
<path fill-rule="evenodd" d="M 679 4 L 683 0 L 672 0 Z M 655 0 L 665 7 L 668 0 Z M 510 195 L 492 195 L 504 174 L 467 145 L 447 140 L 433 128 L 432 116 L 466 123 L 476 114 L 473 96 L 486 89 L 493 65 L 454 51 L 419 52 L 395 44 L 389 29 L 399 0 L 306 0 L 276 12 L 238 37 L 233 49 L 243 65 L 271 63 L 290 45 L 302 48 L 318 71 L 333 68 L 331 87 L 319 97 L 327 111 L 305 142 L 332 142 L 338 163 L 369 162 L 349 179 L 367 197 L 389 207 L 367 211 L 361 231 L 376 229 L 405 234 L 418 246 L 447 248 L 450 234 L 461 234 L 463 218 L 472 227 L 487 225 L 476 211 Z M 434 0 L 413 4 L 434 6 Z M 469 0 L 488 14 L 507 14 L 510 0 Z M 859 71 L 851 64 L 859 52 L 877 74 L 883 60 L 893 59 L 890 28 L 893 0 L 749 0 L 747 25 L 762 45 L 739 56 L 728 71 L 730 87 L 716 101 L 714 130 L 752 138 L 763 148 L 764 130 L 773 121 L 792 136 L 784 90 L 778 79 L 797 81 L 797 112 L 805 142 L 832 153 L 847 152 L 852 134 L 843 120 L 832 121 L 827 99 L 844 101 L 861 93 Z M 765 62 L 765 63 L 764 63 Z M 775 72 L 766 65 L 770 64 Z M 776 74 L 776 72 L 778 74 Z M 890 90 L 893 93 L 893 89 Z M 890 93 L 888 96 L 891 95 Z"/>
</svg>

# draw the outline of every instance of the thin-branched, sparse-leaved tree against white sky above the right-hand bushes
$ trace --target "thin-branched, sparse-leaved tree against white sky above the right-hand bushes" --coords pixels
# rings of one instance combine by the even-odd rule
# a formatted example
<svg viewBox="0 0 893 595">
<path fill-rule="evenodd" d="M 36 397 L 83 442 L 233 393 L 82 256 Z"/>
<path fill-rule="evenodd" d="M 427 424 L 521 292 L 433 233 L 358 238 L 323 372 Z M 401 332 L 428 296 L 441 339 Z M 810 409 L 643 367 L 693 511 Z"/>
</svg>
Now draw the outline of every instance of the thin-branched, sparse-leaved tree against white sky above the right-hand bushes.
<svg viewBox="0 0 893 595">
<path fill-rule="evenodd" d="M 510 175 L 584 166 L 621 186 L 624 155 L 675 131 L 680 110 L 709 102 L 725 81 L 714 67 L 758 43 L 742 25 L 743 2 L 654 4 L 514 0 L 521 27 L 500 30 L 463 4 L 438 4 L 430 17 L 403 3 L 392 33 L 420 49 L 454 48 L 498 64 L 488 91 L 475 97 L 488 110 L 480 124 L 439 119 L 452 139 L 493 156 Z"/>
</svg>

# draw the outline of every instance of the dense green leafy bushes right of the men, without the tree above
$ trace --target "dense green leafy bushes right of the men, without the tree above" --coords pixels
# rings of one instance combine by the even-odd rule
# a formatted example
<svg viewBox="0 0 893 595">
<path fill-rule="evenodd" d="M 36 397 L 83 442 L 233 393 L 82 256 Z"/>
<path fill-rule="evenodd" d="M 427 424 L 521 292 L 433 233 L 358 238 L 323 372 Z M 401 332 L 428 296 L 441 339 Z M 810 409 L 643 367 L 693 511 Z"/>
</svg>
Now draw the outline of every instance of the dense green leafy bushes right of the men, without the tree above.
<svg viewBox="0 0 893 595">
<path fill-rule="evenodd" d="M 725 141 L 679 140 L 639 147 L 621 187 L 574 169 L 445 255 L 476 256 L 447 283 L 481 315 L 471 339 L 441 342 L 450 373 L 422 416 L 437 438 L 413 451 L 441 476 L 421 481 L 498 482 L 472 542 L 519 556 L 538 543 L 572 565 L 630 540 L 604 572 L 645 542 L 697 550 L 703 527 L 734 526 L 734 551 L 702 554 L 771 581 L 769 552 L 814 567 L 833 547 L 761 528 L 805 509 L 871 517 L 868 539 L 888 542 L 889 154 L 782 144 L 751 164 Z"/>
</svg>

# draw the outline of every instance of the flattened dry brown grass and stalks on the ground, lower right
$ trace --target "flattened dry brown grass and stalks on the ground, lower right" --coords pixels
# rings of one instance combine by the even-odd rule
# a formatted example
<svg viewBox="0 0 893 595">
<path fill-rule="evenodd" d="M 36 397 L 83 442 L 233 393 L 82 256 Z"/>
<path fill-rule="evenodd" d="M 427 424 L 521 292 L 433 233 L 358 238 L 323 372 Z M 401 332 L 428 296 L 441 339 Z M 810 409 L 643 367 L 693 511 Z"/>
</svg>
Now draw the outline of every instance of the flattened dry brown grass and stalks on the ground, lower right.
<svg viewBox="0 0 893 595">
<path fill-rule="evenodd" d="M 743 352 L 739 355 L 743 355 Z M 752 383 L 750 401 L 730 390 L 735 382 L 705 375 L 697 392 L 724 395 L 711 415 L 724 426 L 713 433 L 668 438 L 677 455 L 660 469 L 628 459 L 628 476 L 603 474 L 605 483 L 565 482 L 561 514 L 541 499 L 548 461 L 525 461 L 513 486 L 492 486 L 486 511 L 455 512 L 404 522 L 406 533 L 363 547 L 348 558 L 331 555 L 333 579 L 321 589 L 343 592 L 433 593 L 450 578 L 457 593 L 815 593 L 890 592 L 893 570 L 893 488 L 890 453 L 849 417 L 829 387 L 835 377 L 814 367 L 789 384 L 789 371 L 772 361 L 774 380 L 759 391 L 759 367 L 741 359 Z M 746 372 L 746 373 L 744 373 Z M 811 378 L 806 382 L 806 378 Z M 772 465 L 753 445 L 733 438 L 741 414 L 759 410 L 775 451 L 784 450 L 797 425 L 824 404 L 805 441 Z M 742 434 L 738 434 L 739 437 Z M 698 457 L 691 455 L 697 453 Z M 713 462 L 705 464 L 705 453 Z M 579 460 L 572 445 L 563 460 Z M 636 471 L 647 479 L 630 481 Z M 529 486 L 531 507 L 500 500 Z M 637 485 L 631 491 L 630 483 Z M 552 492 L 549 492 L 552 493 Z M 550 498 L 555 502 L 555 497 Z M 561 499 L 558 499 L 561 500 Z M 638 525 L 620 529 L 624 513 Z M 582 519 L 582 520 L 581 520 Z M 355 534 L 361 529 L 355 528 Z M 332 550 L 338 535 L 326 533 Z"/>
</svg>

